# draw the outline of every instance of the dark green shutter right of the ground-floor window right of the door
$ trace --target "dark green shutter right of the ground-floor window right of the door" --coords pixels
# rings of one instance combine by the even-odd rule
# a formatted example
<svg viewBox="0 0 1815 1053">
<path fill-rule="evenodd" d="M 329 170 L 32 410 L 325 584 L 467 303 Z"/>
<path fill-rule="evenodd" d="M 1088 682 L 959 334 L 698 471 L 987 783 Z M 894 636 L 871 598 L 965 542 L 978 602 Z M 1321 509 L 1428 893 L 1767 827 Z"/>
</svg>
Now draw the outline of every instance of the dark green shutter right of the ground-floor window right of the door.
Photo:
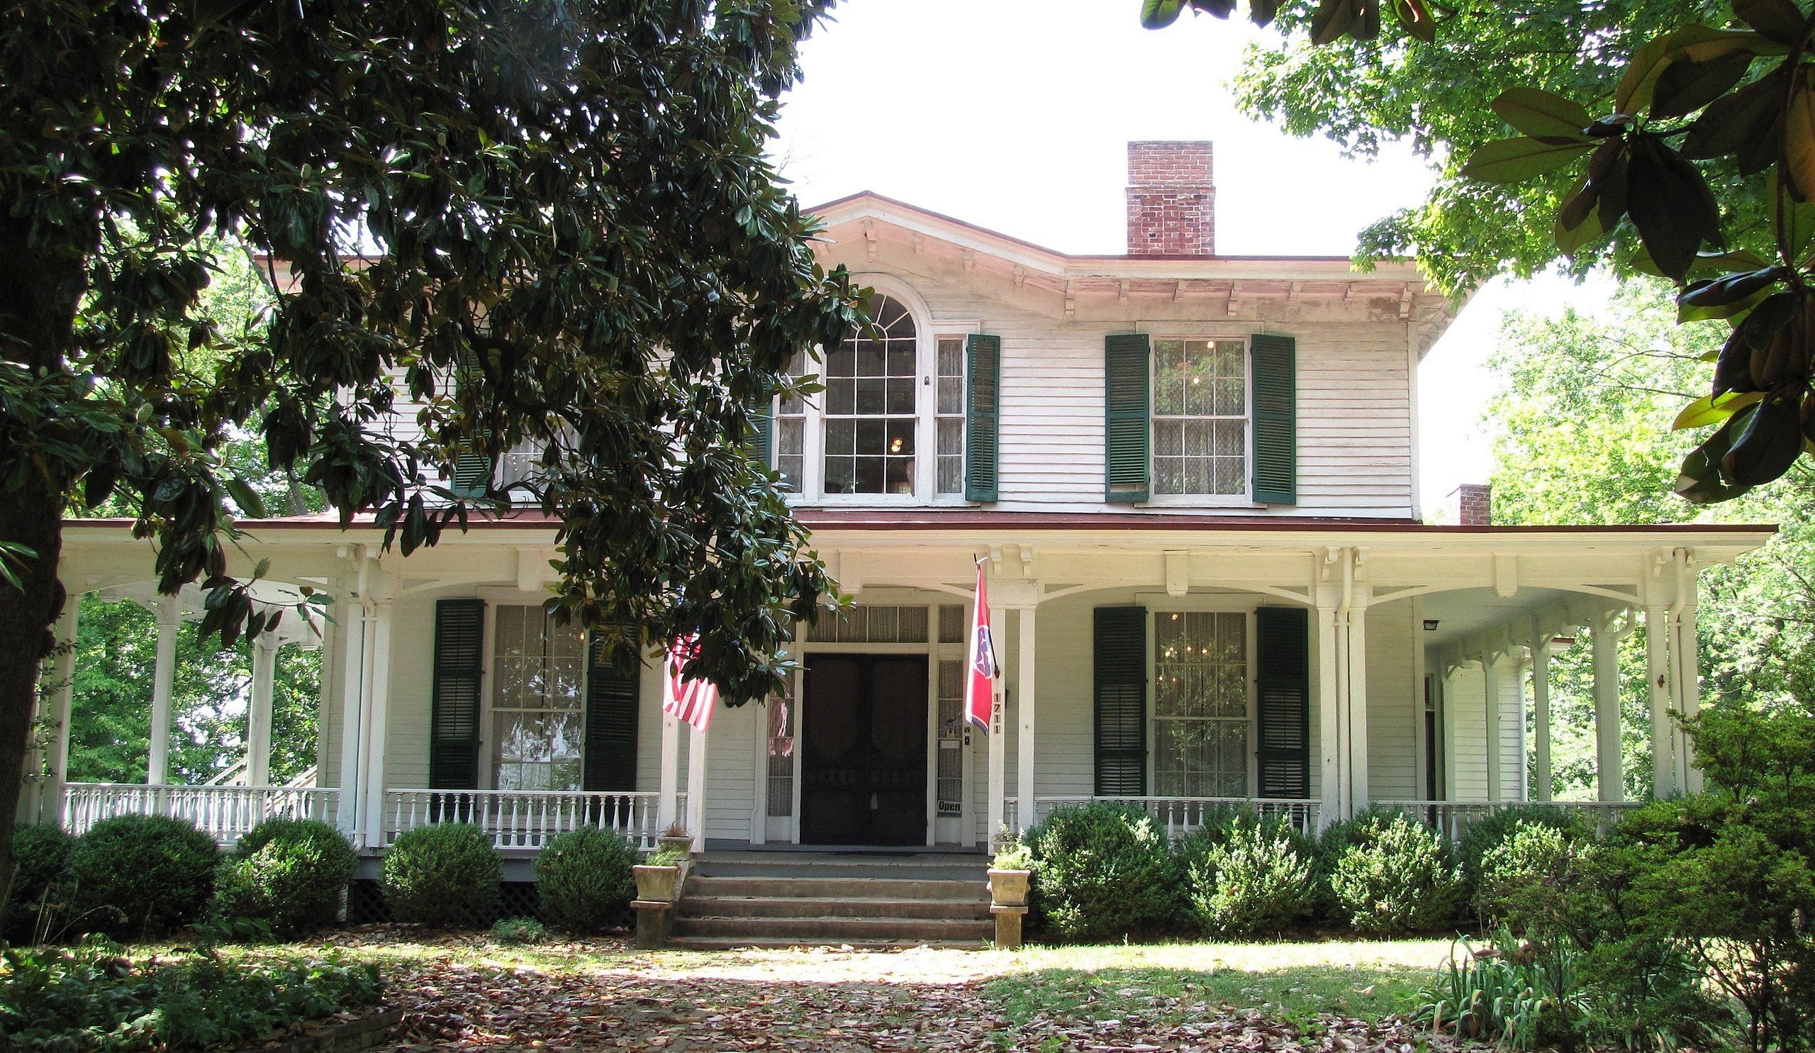
<svg viewBox="0 0 1815 1053">
<path fill-rule="evenodd" d="M 1310 797 L 1310 612 L 1254 612 L 1258 797 Z"/>
</svg>

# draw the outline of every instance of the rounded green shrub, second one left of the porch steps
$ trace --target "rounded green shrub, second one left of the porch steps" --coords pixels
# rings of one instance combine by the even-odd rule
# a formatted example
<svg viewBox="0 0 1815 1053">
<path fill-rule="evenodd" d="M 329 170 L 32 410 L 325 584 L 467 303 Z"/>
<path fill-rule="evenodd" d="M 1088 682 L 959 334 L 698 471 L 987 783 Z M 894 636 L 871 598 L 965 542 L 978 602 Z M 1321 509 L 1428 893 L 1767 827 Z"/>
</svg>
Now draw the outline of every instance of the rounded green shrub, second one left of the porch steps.
<svg viewBox="0 0 1815 1053">
<path fill-rule="evenodd" d="M 399 833 L 385 851 L 378 886 L 394 919 L 454 928 L 490 924 L 503 881 L 483 830 L 441 822 Z"/>
</svg>

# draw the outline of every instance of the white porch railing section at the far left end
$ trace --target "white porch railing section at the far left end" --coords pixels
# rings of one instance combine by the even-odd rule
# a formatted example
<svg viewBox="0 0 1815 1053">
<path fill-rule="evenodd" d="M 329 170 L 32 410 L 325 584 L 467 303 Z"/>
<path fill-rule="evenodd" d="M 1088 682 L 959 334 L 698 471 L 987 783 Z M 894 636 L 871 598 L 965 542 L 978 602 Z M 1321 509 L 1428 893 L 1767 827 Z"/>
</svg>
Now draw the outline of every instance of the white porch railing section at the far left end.
<svg viewBox="0 0 1815 1053">
<path fill-rule="evenodd" d="M 64 830 L 87 833 L 114 815 L 187 819 L 214 841 L 232 842 L 267 819 L 338 822 L 339 790 L 316 786 L 145 786 L 140 782 L 67 782 Z"/>
</svg>

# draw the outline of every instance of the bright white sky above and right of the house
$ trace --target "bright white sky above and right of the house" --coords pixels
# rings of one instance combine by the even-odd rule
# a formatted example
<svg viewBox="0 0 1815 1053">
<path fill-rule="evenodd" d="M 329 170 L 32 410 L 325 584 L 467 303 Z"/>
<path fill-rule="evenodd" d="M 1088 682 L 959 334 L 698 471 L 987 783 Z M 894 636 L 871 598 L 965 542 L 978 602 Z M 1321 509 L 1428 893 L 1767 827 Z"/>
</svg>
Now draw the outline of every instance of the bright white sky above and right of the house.
<svg viewBox="0 0 1815 1053">
<path fill-rule="evenodd" d="M 1214 140 L 1227 254 L 1347 254 L 1370 221 L 1423 200 L 1430 176 L 1408 149 L 1345 160 L 1236 113 L 1243 44 L 1276 34 L 1189 13 L 1149 33 L 1136 15 L 1134 0 L 846 0 L 804 49 L 782 171 L 806 205 L 877 191 L 1062 252 L 1123 251 L 1129 140 Z M 1427 356 L 1427 514 L 1486 479 L 1481 363 L 1501 312 L 1554 301 L 1559 283 L 1543 289 L 1485 289 Z"/>
</svg>

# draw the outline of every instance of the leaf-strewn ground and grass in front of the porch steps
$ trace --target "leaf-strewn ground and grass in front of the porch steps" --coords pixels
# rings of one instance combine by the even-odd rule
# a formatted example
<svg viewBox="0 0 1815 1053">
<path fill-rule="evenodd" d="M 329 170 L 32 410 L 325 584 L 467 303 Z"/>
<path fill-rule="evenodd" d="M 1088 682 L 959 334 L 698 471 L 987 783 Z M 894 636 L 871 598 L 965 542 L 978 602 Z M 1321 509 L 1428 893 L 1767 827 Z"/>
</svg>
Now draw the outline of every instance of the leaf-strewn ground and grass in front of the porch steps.
<svg viewBox="0 0 1815 1053">
<path fill-rule="evenodd" d="M 1383 1051 L 1445 942 L 646 953 L 372 931 L 392 1049 Z"/>
</svg>

